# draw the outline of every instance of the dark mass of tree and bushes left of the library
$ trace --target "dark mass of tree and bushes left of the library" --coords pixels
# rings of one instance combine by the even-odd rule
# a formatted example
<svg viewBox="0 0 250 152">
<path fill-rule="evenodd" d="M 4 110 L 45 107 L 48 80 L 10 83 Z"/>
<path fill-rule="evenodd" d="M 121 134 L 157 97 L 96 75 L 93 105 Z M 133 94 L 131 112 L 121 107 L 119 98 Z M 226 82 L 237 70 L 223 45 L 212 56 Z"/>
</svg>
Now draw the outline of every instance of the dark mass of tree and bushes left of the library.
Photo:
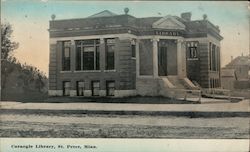
<svg viewBox="0 0 250 152">
<path fill-rule="evenodd" d="M 36 67 L 21 64 L 14 57 L 18 43 L 12 39 L 12 26 L 9 23 L 1 24 L 1 87 L 2 99 L 22 100 L 32 98 L 32 93 L 37 98 L 43 98 L 47 91 L 47 77 Z M 0 95 L 0 97 L 1 97 Z"/>
</svg>

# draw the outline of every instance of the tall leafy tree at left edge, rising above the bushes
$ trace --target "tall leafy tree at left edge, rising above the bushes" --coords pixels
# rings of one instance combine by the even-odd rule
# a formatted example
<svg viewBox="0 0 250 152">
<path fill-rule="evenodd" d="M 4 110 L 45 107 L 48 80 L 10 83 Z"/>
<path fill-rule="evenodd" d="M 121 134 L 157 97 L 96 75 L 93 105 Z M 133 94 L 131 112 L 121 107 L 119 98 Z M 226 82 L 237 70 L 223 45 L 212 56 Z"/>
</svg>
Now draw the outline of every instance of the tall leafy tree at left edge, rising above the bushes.
<svg viewBox="0 0 250 152">
<path fill-rule="evenodd" d="M 1 24 L 1 59 L 8 60 L 12 56 L 15 49 L 18 48 L 18 43 L 11 40 L 12 26 L 9 23 Z"/>
</svg>

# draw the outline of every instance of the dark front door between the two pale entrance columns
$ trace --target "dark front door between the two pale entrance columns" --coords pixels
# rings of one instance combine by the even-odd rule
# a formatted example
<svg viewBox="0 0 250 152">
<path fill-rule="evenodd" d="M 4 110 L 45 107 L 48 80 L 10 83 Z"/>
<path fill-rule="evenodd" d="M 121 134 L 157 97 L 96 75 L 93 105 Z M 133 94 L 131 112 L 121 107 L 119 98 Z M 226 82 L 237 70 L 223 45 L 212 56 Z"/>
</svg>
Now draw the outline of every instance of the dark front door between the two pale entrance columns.
<svg viewBox="0 0 250 152">
<path fill-rule="evenodd" d="M 158 50 L 158 74 L 159 76 L 167 76 L 167 47 L 160 46 Z"/>
</svg>

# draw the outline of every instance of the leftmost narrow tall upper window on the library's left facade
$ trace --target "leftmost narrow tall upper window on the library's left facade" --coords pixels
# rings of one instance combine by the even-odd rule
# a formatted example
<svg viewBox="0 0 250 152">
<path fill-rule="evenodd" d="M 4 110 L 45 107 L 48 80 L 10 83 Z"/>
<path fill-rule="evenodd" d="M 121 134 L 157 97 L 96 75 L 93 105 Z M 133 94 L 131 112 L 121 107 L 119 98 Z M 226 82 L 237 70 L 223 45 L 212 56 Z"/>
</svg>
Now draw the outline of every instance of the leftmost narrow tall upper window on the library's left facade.
<svg viewBox="0 0 250 152">
<path fill-rule="evenodd" d="M 70 41 L 63 42 L 63 50 L 62 50 L 62 70 L 70 71 Z"/>
</svg>

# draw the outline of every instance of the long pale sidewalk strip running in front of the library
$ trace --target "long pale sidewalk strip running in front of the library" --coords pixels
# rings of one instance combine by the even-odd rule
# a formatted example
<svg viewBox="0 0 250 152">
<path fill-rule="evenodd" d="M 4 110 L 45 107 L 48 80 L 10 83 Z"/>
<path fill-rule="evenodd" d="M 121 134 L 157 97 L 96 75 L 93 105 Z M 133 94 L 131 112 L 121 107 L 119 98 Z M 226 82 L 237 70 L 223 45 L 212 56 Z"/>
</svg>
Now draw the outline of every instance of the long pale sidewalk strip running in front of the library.
<svg viewBox="0 0 250 152">
<path fill-rule="evenodd" d="M 158 112 L 249 112 L 250 101 L 210 104 L 136 104 L 136 103 L 21 103 L 1 102 L 1 110 L 85 110 Z"/>
</svg>

